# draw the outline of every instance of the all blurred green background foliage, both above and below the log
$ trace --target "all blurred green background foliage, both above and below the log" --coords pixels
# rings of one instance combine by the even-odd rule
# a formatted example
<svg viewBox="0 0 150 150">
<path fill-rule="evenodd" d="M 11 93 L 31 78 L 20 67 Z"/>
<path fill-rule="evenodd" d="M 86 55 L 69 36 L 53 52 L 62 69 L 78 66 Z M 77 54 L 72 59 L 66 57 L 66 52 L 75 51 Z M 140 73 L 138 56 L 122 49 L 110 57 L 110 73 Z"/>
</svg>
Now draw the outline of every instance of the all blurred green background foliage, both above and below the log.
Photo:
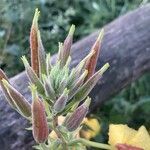
<svg viewBox="0 0 150 150">
<path fill-rule="evenodd" d="M 24 67 L 20 56 L 29 56 L 29 32 L 35 8 L 39 8 L 40 30 L 45 49 L 57 52 L 71 24 L 76 25 L 74 41 L 99 29 L 120 15 L 140 7 L 148 0 L 1 0 L 0 67 L 9 77 Z M 95 140 L 105 141 L 109 123 L 128 123 L 150 127 L 150 74 L 133 82 L 119 95 L 97 110 L 102 132 Z"/>
</svg>

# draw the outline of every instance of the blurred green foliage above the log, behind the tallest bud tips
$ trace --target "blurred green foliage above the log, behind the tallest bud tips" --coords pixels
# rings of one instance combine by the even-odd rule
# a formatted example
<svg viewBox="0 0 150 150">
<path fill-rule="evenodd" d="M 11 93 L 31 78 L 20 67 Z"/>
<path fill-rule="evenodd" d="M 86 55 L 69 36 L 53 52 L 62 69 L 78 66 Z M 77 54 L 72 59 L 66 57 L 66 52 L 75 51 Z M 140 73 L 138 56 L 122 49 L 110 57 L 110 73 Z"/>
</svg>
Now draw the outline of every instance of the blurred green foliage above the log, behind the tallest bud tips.
<svg viewBox="0 0 150 150">
<path fill-rule="evenodd" d="M 40 30 L 47 51 L 57 51 L 71 24 L 75 41 L 114 18 L 134 9 L 141 0 L 1 0 L 0 67 L 9 76 L 23 70 L 20 56 L 29 53 L 29 32 L 34 10 L 41 11 Z"/>
</svg>

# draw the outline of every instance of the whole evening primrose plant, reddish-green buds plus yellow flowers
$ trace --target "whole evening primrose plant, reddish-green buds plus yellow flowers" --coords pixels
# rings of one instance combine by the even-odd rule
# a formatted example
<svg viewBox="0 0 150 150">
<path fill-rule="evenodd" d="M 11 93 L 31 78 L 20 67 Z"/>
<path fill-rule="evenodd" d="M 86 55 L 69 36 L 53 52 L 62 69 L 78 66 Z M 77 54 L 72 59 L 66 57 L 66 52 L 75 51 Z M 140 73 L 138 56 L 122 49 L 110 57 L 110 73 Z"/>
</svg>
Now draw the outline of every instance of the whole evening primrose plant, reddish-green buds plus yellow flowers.
<svg viewBox="0 0 150 150">
<path fill-rule="evenodd" d="M 138 131 L 126 125 L 110 125 L 109 144 L 90 141 L 100 131 L 96 119 L 86 118 L 93 87 L 109 68 L 106 63 L 95 72 L 100 52 L 103 29 L 89 54 L 71 68 L 70 50 L 75 26 L 72 25 L 54 64 L 46 54 L 38 28 L 39 11 L 36 9 L 30 32 L 31 65 L 25 56 L 22 61 L 29 78 L 32 103 L 19 93 L 0 70 L 0 84 L 6 100 L 31 127 L 35 149 L 86 150 L 95 147 L 107 150 L 150 150 L 150 136 L 142 126 Z M 86 125 L 87 129 L 82 129 Z M 82 138 L 84 137 L 84 138 Z M 130 138 L 132 139 L 130 140 Z M 146 140 L 141 141 L 142 138 Z"/>
</svg>

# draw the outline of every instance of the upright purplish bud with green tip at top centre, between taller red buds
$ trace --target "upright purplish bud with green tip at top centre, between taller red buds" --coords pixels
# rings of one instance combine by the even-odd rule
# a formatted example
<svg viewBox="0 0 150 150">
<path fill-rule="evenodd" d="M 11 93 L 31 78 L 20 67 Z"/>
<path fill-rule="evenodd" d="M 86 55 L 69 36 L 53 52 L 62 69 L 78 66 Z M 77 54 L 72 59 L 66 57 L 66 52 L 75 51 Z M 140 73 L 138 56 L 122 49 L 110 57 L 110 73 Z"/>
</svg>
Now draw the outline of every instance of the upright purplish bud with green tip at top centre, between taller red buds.
<svg viewBox="0 0 150 150">
<path fill-rule="evenodd" d="M 63 50 L 61 52 L 61 65 L 62 66 L 66 64 L 66 61 L 70 55 L 74 31 L 75 31 L 75 25 L 72 25 L 69 30 L 69 34 L 64 41 Z"/>
</svg>

